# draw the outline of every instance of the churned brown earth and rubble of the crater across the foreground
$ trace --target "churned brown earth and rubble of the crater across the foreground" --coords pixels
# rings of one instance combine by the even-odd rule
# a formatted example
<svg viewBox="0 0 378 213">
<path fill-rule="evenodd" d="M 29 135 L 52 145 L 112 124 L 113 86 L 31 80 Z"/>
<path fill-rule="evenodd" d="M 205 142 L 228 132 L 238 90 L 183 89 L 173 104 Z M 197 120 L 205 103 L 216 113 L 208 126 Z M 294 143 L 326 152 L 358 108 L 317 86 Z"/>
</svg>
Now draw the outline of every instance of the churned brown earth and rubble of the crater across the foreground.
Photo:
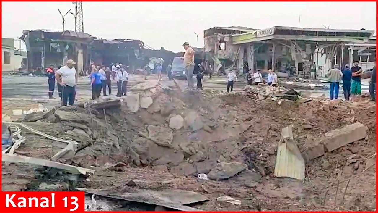
<svg viewBox="0 0 378 213">
<path fill-rule="evenodd" d="M 243 94 L 182 92 L 164 80 L 141 94 L 144 98 L 137 105 L 144 108 L 138 107 L 135 113 L 130 112 L 131 102 L 135 102 L 130 98 L 123 99 L 120 107 L 107 108 L 105 116 L 101 110 L 89 112 L 80 106 L 54 108 L 38 119 L 29 116 L 24 124 L 79 143 L 74 156 L 59 161 L 96 172 L 85 181 L 67 184 L 59 179 L 42 180 L 40 172 L 29 165 L 2 163 L 2 190 L 46 190 L 45 183 L 50 184 L 50 190 L 73 190 L 76 186 L 119 192 L 183 189 L 209 198 L 192 205 L 201 210 L 375 210 L 375 166 L 363 172 L 376 147 L 372 102 L 314 99 L 279 104 Z M 293 125 L 294 139 L 303 150 L 325 132 L 356 121 L 369 128 L 369 137 L 307 162 L 303 181 L 274 177 L 283 127 Z M 27 141 L 16 150 L 21 155 L 48 159 L 65 146 L 25 129 L 23 133 Z M 351 156 L 353 161 L 348 160 Z M 109 168 L 118 162 L 125 166 Z M 219 179 L 217 168 L 225 164 L 241 172 L 226 180 L 200 180 L 196 176 L 205 173 Z M 129 180 L 136 186 L 125 185 Z M 242 204 L 215 200 L 223 195 L 240 199 Z"/>
</svg>

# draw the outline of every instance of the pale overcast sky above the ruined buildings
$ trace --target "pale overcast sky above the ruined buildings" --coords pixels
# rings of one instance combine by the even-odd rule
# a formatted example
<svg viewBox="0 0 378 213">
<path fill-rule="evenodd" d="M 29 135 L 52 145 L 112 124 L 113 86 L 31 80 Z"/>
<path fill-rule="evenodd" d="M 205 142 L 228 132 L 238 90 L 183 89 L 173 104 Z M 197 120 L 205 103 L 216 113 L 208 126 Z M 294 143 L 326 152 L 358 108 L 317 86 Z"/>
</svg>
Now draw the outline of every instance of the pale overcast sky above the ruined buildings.
<svg viewBox="0 0 378 213">
<path fill-rule="evenodd" d="M 26 29 L 62 30 L 57 8 L 74 11 L 71 2 L 2 2 L 2 37 L 17 38 Z M 203 47 L 203 30 L 215 26 L 376 30 L 375 10 L 375 2 L 83 2 L 85 33 L 139 39 L 174 52 L 182 51 L 184 41 L 196 46 L 195 33 Z M 66 16 L 65 28 L 74 30 L 73 15 Z"/>
</svg>

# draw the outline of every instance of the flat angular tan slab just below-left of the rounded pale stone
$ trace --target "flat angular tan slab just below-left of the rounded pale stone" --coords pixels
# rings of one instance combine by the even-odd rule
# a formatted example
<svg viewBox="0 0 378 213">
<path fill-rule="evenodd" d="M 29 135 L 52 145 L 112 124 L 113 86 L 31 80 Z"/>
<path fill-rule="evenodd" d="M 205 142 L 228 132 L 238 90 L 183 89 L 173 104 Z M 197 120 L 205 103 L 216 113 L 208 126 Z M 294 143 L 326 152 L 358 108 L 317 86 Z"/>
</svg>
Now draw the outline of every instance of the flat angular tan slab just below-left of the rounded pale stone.
<svg viewBox="0 0 378 213">
<path fill-rule="evenodd" d="M 171 129 L 163 126 L 149 125 L 147 131 L 149 132 L 148 138 L 156 144 L 166 147 L 171 146 L 173 139 L 173 132 Z"/>
</svg>

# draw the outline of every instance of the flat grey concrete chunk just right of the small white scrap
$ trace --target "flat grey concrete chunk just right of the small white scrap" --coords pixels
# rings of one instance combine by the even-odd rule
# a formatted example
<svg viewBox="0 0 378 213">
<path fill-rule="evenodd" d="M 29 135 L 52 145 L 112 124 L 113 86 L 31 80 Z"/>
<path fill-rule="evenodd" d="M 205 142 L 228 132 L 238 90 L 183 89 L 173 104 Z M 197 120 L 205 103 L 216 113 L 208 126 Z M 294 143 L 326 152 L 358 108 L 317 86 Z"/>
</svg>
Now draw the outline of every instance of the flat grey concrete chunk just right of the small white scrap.
<svg viewBox="0 0 378 213">
<path fill-rule="evenodd" d="M 239 162 L 226 163 L 221 161 L 217 168 L 211 170 L 208 174 L 209 179 L 211 180 L 225 180 L 233 177 L 239 172 L 244 171 L 247 168 L 247 164 Z"/>
</svg>

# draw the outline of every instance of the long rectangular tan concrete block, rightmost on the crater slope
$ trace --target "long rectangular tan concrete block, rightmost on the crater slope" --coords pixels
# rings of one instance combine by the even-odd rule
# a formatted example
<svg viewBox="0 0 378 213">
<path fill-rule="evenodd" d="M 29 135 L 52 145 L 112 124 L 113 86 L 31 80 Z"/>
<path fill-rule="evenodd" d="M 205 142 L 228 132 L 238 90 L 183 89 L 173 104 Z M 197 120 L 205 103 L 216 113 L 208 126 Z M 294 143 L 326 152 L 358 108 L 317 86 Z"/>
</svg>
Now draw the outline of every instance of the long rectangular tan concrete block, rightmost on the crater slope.
<svg viewBox="0 0 378 213">
<path fill-rule="evenodd" d="M 325 150 L 331 152 L 346 144 L 353 143 L 367 136 L 367 127 L 356 122 L 343 128 L 331 130 L 325 133 L 320 143 L 324 144 Z"/>
</svg>

